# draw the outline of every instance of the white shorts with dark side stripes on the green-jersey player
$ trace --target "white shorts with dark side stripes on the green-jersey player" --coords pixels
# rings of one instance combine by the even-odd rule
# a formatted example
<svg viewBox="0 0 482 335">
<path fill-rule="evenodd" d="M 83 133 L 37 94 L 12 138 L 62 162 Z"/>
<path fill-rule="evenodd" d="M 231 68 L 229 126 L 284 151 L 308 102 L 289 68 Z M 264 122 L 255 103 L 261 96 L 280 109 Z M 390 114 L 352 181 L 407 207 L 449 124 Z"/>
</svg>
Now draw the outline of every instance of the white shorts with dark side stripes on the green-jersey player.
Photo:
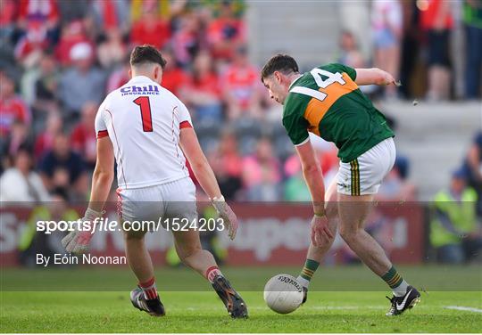
<svg viewBox="0 0 482 335">
<path fill-rule="evenodd" d="M 349 163 L 340 161 L 337 192 L 346 195 L 375 194 L 395 164 L 395 142 L 392 137 L 378 143 Z"/>
</svg>

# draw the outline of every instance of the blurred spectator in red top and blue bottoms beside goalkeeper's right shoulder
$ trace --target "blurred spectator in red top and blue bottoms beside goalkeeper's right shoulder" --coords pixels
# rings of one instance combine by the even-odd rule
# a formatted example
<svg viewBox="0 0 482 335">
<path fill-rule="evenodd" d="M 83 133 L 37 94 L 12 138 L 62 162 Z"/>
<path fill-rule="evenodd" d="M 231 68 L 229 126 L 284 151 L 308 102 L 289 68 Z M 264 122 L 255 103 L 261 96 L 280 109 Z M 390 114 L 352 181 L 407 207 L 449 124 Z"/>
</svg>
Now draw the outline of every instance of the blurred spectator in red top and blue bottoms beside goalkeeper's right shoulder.
<svg viewBox="0 0 482 335">
<path fill-rule="evenodd" d="M 197 120 L 220 122 L 220 78 L 208 52 L 202 51 L 195 56 L 193 77 L 187 84 L 185 93 L 185 101 L 194 107 Z"/>
</svg>

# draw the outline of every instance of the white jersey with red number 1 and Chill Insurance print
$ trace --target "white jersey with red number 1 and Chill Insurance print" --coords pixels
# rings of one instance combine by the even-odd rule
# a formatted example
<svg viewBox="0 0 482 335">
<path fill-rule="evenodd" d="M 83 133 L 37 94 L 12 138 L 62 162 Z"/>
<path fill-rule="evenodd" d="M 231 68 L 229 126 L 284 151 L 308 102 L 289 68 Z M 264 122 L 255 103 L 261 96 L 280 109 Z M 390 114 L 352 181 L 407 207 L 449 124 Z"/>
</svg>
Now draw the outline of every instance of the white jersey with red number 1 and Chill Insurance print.
<svg viewBox="0 0 482 335">
<path fill-rule="evenodd" d="M 134 77 L 107 95 L 97 111 L 96 135 L 111 139 L 120 189 L 189 176 L 179 135 L 191 124 L 184 103 L 150 78 Z"/>
</svg>

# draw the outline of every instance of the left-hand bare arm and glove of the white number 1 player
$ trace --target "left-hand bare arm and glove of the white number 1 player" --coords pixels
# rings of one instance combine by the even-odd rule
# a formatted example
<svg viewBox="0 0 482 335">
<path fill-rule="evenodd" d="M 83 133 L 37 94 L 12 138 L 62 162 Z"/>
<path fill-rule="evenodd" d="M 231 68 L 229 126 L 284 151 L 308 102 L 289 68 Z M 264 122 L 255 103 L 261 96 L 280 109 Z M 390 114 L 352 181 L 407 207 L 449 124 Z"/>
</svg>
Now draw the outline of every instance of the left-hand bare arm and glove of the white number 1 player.
<svg viewBox="0 0 482 335">
<path fill-rule="evenodd" d="M 74 230 L 62 239 L 62 246 L 73 253 L 87 252 L 88 244 L 95 232 L 95 221 L 102 217 L 105 200 L 109 196 L 113 180 L 114 155 L 109 137 L 97 139 L 97 161 L 92 176 L 90 202 L 82 223 L 88 222 L 89 231 Z"/>
</svg>

